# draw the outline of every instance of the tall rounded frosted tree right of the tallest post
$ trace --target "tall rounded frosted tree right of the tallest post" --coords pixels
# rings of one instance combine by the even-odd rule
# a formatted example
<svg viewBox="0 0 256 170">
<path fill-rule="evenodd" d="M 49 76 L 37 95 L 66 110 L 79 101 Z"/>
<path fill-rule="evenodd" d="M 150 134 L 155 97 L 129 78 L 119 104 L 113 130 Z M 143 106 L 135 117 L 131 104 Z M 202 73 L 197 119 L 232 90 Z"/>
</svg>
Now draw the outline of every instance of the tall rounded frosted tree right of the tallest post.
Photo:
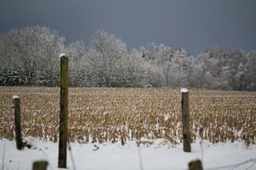
<svg viewBox="0 0 256 170">
<path fill-rule="evenodd" d="M 119 86 L 123 81 L 121 65 L 126 55 L 125 43 L 104 30 L 97 30 L 86 53 L 88 77 L 100 87 Z"/>
</svg>

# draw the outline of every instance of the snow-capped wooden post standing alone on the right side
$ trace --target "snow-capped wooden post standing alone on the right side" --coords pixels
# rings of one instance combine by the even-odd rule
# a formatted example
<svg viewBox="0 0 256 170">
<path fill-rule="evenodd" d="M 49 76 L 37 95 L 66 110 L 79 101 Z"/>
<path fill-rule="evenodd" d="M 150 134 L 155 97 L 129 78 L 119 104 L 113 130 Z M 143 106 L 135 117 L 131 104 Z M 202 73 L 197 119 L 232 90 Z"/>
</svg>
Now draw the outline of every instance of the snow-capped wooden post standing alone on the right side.
<svg viewBox="0 0 256 170">
<path fill-rule="evenodd" d="M 181 114 L 182 114 L 183 150 L 185 152 L 191 152 L 189 90 L 183 89 L 183 88 L 181 89 Z"/>
</svg>

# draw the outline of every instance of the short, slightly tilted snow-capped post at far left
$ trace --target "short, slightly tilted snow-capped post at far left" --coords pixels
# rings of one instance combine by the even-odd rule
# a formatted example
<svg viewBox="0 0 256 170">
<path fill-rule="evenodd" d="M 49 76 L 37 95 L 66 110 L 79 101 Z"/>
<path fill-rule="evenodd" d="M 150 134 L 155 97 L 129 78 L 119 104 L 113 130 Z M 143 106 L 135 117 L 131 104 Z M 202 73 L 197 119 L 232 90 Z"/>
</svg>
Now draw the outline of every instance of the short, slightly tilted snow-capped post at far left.
<svg viewBox="0 0 256 170">
<path fill-rule="evenodd" d="M 17 149 L 23 149 L 22 126 L 21 126 L 21 100 L 20 97 L 13 96 L 14 123 L 15 123 L 15 140 Z"/>
</svg>

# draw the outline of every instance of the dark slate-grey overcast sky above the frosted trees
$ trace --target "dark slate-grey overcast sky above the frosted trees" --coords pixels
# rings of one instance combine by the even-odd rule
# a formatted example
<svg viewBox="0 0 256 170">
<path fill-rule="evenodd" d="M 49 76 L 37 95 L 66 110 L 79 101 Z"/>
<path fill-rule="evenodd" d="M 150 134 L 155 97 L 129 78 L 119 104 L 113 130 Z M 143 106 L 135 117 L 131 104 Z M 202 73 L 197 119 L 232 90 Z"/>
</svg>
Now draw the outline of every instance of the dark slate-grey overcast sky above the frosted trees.
<svg viewBox="0 0 256 170">
<path fill-rule="evenodd" d="M 128 47 L 147 42 L 183 47 L 256 49 L 255 0 L 0 0 L 0 33 L 29 25 L 58 30 L 89 44 L 98 29 Z"/>
</svg>

